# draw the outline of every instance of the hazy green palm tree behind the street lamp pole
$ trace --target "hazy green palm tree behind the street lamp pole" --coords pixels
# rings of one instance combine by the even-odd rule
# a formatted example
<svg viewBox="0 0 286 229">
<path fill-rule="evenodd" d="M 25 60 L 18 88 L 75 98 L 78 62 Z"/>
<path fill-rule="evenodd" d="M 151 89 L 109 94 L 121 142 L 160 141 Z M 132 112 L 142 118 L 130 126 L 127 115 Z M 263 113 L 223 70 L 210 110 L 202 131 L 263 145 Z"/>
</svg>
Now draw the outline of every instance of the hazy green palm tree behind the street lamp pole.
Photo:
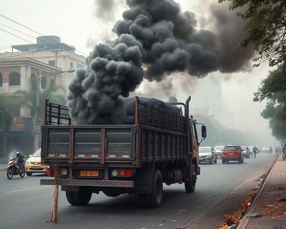
<svg viewBox="0 0 286 229">
<path fill-rule="evenodd" d="M 63 94 L 57 94 L 57 92 L 62 91 Z M 37 80 L 35 77 L 29 78 L 28 81 L 28 90 L 18 90 L 14 92 L 15 96 L 18 96 L 19 103 L 24 106 L 28 106 L 31 108 L 31 115 L 32 117 L 35 116 L 37 113 L 37 118 L 43 118 L 43 108 L 44 108 L 44 101 L 48 99 L 52 103 L 57 103 L 60 105 L 66 105 L 65 94 L 66 89 L 63 86 L 56 85 L 51 83 L 48 88 L 40 91 L 39 96 L 39 107 L 36 107 L 37 98 Z"/>
</svg>

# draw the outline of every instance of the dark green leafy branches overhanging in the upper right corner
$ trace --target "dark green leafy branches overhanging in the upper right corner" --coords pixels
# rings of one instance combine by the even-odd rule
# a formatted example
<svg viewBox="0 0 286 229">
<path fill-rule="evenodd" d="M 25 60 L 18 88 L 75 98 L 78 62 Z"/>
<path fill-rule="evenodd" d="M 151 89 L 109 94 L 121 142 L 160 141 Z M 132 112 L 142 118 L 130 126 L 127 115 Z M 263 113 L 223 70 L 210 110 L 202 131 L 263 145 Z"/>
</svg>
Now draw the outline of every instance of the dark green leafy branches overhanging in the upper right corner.
<svg viewBox="0 0 286 229">
<path fill-rule="evenodd" d="M 259 66 L 269 61 L 269 66 L 282 64 L 285 59 L 286 1 L 282 0 L 219 0 L 229 1 L 229 10 L 242 10 L 237 16 L 247 20 L 246 33 L 238 46 L 253 46 L 259 56 L 254 58 Z M 246 9 L 246 10 L 245 10 Z"/>
</svg>

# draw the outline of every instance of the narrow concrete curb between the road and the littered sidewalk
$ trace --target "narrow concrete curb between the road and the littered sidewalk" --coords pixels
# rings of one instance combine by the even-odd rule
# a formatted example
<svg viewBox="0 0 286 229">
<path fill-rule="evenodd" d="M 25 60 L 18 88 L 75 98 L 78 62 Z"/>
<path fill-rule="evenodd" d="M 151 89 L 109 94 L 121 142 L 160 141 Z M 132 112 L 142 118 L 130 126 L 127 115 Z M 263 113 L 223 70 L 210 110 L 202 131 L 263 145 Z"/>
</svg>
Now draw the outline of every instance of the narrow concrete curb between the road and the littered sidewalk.
<svg viewBox="0 0 286 229">
<path fill-rule="evenodd" d="M 243 218 L 242 218 L 240 224 L 238 225 L 237 229 L 245 229 L 245 228 L 247 228 L 247 226 L 248 226 L 248 224 L 249 224 L 251 218 L 247 218 L 246 215 L 248 215 L 248 213 L 249 213 L 250 211 L 255 210 L 255 209 L 257 208 L 257 202 L 259 202 L 259 200 L 261 199 L 262 192 L 263 192 L 263 189 L 264 189 L 264 187 L 265 187 L 265 184 L 270 180 L 271 174 L 272 174 L 272 172 L 273 172 L 273 169 L 274 169 L 274 167 L 275 167 L 275 165 L 276 165 L 276 162 L 277 162 L 278 158 L 279 158 L 279 156 L 276 158 L 275 163 L 272 165 L 272 168 L 271 168 L 270 171 L 268 172 L 267 177 L 266 177 L 266 179 L 264 180 L 262 186 L 260 187 L 260 189 L 259 189 L 259 191 L 258 191 L 258 193 L 257 193 L 257 195 L 256 195 L 256 197 L 255 197 L 255 199 L 254 199 L 254 201 L 253 201 L 253 203 L 252 203 L 252 205 L 251 205 L 250 208 L 248 208 L 248 210 L 246 211 L 246 213 L 245 213 L 245 215 L 243 216 Z"/>
</svg>

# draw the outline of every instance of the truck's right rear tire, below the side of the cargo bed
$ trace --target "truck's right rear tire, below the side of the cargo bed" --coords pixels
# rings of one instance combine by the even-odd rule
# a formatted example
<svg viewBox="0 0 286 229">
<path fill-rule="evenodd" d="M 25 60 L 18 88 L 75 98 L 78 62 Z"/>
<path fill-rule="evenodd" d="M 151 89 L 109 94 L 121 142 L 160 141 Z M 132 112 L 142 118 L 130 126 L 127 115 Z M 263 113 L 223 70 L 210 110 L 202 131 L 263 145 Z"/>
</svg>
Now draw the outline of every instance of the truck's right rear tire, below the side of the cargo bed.
<svg viewBox="0 0 286 229">
<path fill-rule="evenodd" d="M 144 194 L 144 199 L 148 208 L 159 208 L 163 199 L 163 178 L 160 170 L 154 170 L 152 192 Z"/>
</svg>

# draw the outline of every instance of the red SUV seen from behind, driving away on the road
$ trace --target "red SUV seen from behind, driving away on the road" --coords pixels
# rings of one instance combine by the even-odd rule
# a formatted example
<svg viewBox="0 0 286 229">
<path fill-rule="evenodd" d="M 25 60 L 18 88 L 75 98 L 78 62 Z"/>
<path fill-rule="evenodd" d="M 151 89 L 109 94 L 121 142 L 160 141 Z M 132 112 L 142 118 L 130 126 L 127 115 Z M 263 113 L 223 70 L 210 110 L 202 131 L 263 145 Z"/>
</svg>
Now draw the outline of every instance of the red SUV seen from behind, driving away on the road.
<svg viewBox="0 0 286 229">
<path fill-rule="evenodd" d="M 229 161 L 238 161 L 243 163 L 243 152 L 239 145 L 225 146 L 221 151 L 222 163 L 229 163 Z"/>
</svg>

